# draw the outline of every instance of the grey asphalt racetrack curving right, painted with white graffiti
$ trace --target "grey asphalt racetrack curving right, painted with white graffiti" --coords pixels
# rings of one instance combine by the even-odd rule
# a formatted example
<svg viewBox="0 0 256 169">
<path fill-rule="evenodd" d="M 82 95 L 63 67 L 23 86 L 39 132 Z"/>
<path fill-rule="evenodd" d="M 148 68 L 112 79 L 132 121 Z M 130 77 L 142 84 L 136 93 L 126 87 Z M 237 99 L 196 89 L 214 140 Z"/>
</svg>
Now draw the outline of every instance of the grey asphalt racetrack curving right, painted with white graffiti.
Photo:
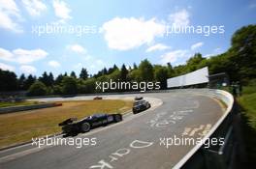
<svg viewBox="0 0 256 169">
<path fill-rule="evenodd" d="M 138 95 L 112 97 L 135 96 Z M 77 148 L 79 144 L 41 148 L 35 144 L 25 145 L 0 152 L 0 168 L 169 169 L 193 148 L 191 142 L 182 143 L 181 140 L 198 140 L 223 114 L 223 108 L 217 100 L 196 93 L 140 96 L 153 101 L 153 107 L 136 115 L 128 114 L 121 123 L 99 127 L 73 137 L 75 141 L 85 140 L 81 148 Z"/>
</svg>

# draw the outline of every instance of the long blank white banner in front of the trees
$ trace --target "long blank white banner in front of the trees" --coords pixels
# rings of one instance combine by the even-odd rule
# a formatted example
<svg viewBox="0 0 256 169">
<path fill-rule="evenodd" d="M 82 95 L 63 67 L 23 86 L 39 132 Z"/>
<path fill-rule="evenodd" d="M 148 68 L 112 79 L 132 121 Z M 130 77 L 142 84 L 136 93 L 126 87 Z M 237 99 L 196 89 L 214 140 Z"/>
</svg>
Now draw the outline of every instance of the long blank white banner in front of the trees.
<svg viewBox="0 0 256 169">
<path fill-rule="evenodd" d="M 168 88 L 201 84 L 201 83 L 208 83 L 208 67 L 167 79 Z"/>
</svg>

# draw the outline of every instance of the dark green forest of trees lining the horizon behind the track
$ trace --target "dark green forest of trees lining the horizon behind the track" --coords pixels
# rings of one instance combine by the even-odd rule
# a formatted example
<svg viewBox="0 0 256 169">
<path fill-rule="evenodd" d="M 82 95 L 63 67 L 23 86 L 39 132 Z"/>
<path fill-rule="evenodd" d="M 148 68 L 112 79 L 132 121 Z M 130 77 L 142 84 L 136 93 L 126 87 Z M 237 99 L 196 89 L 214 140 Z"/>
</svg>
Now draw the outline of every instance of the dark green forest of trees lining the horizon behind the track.
<svg viewBox="0 0 256 169">
<path fill-rule="evenodd" d="M 89 94 L 95 91 L 96 81 L 159 81 L 161 89 L 166 89 L 167 78 L 181 75 L 204 67 L 210 74 L 226 72 L 231 81 L 240 81 L 246 85 L 256 78 L 256 25 L 240 28 L 232 37 L 231 47 L 224 53 L 204 58 L 202 54 L 195 53 L 186 64 L 173 67 L 167 65 L 152 65 L 148 60 L 142 61 L 138 66 L 121 68 L 113 65 L 104 68 L 94 75 L 89 75 L 86 69 L 65 72 L 56 77 L 51 72 L 45 71 L 40 77 L 33 75 L 16 76 L 15 72 L 0 70 L 0 92 L 28 91 L 29 96 L 43 95 L 75 95 Z"/>
</svg>

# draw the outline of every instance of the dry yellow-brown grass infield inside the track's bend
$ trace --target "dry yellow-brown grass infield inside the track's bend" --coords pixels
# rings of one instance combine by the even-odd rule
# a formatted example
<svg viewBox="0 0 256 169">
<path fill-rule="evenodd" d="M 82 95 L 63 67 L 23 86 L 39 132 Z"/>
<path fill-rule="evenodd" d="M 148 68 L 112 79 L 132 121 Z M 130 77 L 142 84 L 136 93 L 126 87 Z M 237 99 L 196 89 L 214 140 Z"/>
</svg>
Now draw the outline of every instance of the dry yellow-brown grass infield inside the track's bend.
<svg viewBox="0 0 256 169">
<path fill-rule="evenodd" d="M 0 115 L 0 148 L 31 138 L 60 132 L 58 124 L 68 118 L 81 119 L 94 113 L 124 113 L 131 109 L 130 100 L 61 101 L 62 106 Z"/>
</svg>

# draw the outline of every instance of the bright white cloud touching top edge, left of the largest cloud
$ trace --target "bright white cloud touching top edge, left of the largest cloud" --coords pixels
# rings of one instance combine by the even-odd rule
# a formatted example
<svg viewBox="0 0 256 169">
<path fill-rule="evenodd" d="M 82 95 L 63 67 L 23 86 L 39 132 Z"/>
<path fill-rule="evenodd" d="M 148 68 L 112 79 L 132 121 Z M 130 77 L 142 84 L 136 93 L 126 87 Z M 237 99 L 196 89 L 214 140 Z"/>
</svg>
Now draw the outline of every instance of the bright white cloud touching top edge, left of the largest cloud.
<svg viewBox="0 0 256 169">
<path fill-rule="evenodd" d="M 53 0 L 54 13 L 61 20 L 66 20 L 72 18 L 70 15 L 71 10 L 68 8 L 68 5 L 64 1 Z"/>
</svg>

